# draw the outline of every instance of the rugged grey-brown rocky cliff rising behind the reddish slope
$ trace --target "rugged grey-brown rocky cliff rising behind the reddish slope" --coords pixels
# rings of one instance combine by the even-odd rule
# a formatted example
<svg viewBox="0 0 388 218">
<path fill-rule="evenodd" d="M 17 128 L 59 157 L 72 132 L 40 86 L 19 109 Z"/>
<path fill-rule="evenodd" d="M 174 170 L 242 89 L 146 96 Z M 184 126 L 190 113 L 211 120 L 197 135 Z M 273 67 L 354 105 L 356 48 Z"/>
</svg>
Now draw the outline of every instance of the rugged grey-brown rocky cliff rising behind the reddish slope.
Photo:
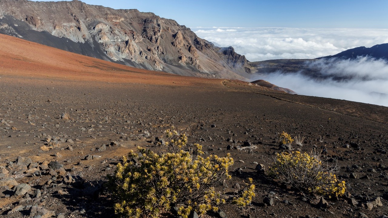
<svg viewBox="0 0 388 218">
<path fill-rule="evenodd" d="M 174 20 L 136 9 L 0 0 L 0 17 L 0 33 L 128 66 L 242 80 L 250 73 L 232 47 L 217 47 Z"/>
</svg>

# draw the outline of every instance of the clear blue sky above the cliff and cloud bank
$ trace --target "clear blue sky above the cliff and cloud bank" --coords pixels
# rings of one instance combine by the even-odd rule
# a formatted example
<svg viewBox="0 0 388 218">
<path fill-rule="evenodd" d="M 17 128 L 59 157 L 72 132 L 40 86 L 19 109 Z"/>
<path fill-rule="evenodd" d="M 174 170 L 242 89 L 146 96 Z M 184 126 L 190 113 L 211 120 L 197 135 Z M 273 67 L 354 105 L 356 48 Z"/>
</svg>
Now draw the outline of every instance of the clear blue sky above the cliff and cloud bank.
<svg viewBox="0 0 388 218">
<path fill-rule="evenodd" d="M 388 28 L 388 0 L 82 0 L 195 27 Z"/>
</svg>

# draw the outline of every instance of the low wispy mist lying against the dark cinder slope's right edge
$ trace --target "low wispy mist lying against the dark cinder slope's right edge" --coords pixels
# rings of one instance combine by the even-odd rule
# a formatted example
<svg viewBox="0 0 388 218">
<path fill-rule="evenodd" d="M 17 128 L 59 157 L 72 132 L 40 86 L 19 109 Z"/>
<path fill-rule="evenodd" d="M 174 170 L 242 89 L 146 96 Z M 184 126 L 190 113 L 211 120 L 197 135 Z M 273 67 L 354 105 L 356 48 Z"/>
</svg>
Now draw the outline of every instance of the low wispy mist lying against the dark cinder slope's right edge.
<svg viewBox="0 0 388 218">
<path fill-rule="evenodd" d="M 325 60 L 308 67 L 319 70 L 325 79 L 316 80 L 303 72 L 276 72 L 265 79 L 280 87 L 287 87 L 301 95 L 388 106 L 388 63 L 368 57 L 355 60 Z M 336 77 L 336 78 L 334 78 Z M 342 80 L 338 80 L 342 77 Z M 259 79 L 259 78 L 253 78 Z"/>
</svg>

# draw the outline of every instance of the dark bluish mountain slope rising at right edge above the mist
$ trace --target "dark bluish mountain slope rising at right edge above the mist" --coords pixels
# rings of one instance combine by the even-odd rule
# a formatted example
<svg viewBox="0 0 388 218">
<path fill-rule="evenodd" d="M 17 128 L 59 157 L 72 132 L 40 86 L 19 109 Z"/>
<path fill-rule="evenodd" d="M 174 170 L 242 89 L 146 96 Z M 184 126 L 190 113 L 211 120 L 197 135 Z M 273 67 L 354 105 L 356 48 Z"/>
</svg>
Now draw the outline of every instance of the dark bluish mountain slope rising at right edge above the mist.
<svg viewBox="0 0 388 218">
<path fill-rule="evenodd" d="M 370 48 L 366 48 L 364 46 L 348 49 L 346 51 L 340 52 L 336 55 L 329 55 L 322 58 L 341 58 L 341 59 L 355 59 L 359 56 L 365 57 L 373 57 L 375 59 L 385 59 L 388 61 L 388 43 L 374 45 Z"/>
</svg>

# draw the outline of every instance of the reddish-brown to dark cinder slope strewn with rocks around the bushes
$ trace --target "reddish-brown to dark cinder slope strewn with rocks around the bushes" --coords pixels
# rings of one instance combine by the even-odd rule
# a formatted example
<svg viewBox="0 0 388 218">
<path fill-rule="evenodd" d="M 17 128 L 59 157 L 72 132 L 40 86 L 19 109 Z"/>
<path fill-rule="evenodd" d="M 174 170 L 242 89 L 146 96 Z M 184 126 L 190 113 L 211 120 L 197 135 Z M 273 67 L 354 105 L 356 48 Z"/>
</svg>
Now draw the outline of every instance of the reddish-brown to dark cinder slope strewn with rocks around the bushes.
<svg viewBox="0 0 388 218">
<path fill-rule="evenodd" d="M 170 125 L 187 132 L 189 142 L 202 144 L 209 154 L 230 152 L 235 164 L 225 191 L 254 179 L 253 203 L 244 209 L 221 206 L 228 217 L 388 215 L 386 107 L 145 71 L 5 35 L 0 43 L 0 217 L 112 217 L 109 195 L 100 188 L 104 175 L 136 145 L 156 149 L 154 137 Z M 64 113 L 70 118 L 61 119 Z M 302 151 L 325 148 L 322 161 L 338 159 L 346 196 L 318 209 L 317 201 L 303 201 L 295 190 L 256 174 L 253 162 L 268 167 L 281 151 L 274 138 L 282 131 L 305 136 Z M 258 148 L 226 150 L 246 140 Z M 16 164 L 17 157 L 30 158 L 29 169 L 23 158 Z M 65 169 L 60 174 L 80 175 L 87 182 L 66 185 L 60 176 L 53 178 L 55 172 L 41 170 L 43 161 L 55 160 Z M 4 178 L 32 188 L 16 196 Z M 265 206 L 270 192 L 275 193 L 274 205 Z M 368 209 L 376 197 L 383 206 Z"/>
</svg>

